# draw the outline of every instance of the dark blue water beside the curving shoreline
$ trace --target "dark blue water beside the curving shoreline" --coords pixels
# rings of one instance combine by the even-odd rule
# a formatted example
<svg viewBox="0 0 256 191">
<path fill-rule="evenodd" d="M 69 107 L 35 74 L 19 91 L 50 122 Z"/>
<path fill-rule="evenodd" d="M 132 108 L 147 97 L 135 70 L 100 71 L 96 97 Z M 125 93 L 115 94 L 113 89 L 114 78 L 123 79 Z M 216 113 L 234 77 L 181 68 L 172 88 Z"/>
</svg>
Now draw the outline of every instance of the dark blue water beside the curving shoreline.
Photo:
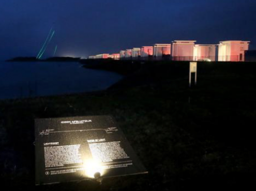
<svg viewBox="0 0 256 191">
<path fill-rule="evenodd" d="M 70 62 L 0 62 L 0 99 L 107 89 L 121 75 Z"/>
</svg>

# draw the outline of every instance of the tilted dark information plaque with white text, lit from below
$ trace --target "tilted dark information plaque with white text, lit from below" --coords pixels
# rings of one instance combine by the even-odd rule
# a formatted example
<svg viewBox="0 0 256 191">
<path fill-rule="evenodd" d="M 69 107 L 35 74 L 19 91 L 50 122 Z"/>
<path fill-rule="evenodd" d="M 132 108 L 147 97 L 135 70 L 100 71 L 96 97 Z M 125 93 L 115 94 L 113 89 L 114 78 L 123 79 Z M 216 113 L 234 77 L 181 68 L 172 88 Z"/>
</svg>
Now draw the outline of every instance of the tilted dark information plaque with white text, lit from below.
<svg viewBox="0 0 256 191">
<path fill-rule="evenodd" d="M 35 119 L 36 185 L 147 173 L 112 116 Z"/>
</svg>

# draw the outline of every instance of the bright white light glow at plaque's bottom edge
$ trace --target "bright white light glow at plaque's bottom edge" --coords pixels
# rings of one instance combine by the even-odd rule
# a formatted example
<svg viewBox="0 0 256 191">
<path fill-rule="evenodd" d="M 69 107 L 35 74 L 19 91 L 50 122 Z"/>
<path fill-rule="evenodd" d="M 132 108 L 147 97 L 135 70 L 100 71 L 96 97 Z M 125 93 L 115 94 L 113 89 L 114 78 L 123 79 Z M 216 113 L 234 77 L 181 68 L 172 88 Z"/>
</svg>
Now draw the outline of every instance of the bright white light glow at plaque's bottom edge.
<svg viewBox="0 0 256 191">
<path fill-rule="evenodd" d="M 95 178 L 95 173 L 99 172 L 100 176 L 104 174 L 104 166 L 101 165 L 100 161 L 87 160 L 84 162 L 84 172 L 89 178 Z"/>
</svg>

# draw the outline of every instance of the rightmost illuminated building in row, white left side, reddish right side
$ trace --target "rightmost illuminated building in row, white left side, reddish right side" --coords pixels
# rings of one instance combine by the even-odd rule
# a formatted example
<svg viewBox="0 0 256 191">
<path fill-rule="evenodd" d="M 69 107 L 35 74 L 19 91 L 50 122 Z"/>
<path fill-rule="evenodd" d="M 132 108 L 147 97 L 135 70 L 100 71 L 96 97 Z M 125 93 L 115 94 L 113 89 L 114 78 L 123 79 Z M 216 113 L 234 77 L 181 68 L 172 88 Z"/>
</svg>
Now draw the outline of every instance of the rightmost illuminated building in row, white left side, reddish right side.
<svg viewBox="0 0 256 191">
<path fill-rule="evenodd" d="M 219 43 L 218 61 L 245 61 L 245 50 L 250 41 L 222 41 Z"/>
</svg>

